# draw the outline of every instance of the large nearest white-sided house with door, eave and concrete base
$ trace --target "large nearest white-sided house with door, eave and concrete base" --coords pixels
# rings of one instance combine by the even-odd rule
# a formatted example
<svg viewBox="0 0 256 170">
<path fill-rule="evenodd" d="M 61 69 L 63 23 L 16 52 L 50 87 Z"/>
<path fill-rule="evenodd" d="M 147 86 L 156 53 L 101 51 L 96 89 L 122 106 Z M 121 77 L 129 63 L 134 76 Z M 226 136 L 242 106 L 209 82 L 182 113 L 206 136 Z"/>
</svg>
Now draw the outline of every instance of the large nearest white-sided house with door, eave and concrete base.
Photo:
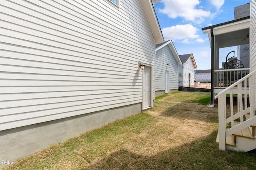
<svg viewBox="0 0 256 170">
<path fill-rule="evenodd" d="M 4 0 L 1 23 L 0 160 L 153 107 L 151 0 Z"/>
</svg>

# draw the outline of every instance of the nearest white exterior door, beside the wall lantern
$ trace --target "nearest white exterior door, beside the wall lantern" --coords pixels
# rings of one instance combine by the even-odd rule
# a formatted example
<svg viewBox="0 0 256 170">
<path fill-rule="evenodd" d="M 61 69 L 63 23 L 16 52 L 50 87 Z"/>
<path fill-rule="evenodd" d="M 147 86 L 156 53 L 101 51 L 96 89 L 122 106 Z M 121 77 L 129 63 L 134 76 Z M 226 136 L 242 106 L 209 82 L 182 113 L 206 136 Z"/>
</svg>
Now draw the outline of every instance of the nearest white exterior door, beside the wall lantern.
<svg viewBox="0 0 256 170">
<path fill-rule="evenodd" d="M 144 66 L 143 70 L 143 108 L 151 106 L 151 68 Z"/>
</svg>

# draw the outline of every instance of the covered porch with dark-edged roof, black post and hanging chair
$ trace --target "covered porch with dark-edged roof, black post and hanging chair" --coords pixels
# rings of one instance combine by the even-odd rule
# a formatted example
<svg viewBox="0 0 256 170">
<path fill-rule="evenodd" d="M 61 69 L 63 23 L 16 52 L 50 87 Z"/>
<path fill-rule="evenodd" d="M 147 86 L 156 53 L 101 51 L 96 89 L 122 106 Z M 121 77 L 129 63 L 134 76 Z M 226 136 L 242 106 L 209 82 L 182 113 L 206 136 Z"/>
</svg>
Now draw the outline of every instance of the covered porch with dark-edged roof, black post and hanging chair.
<svg viewBox="0 0 256 170">
<path fill-rule="evenodd" d="M 211 104 L 214 96 L 250 73 L 250 16 L 202 28 L 211 45 Z M 242 85 L 248 90 L 246 83 Z M 237 94 L 234 89 L 233 94 Z"/>
</svg>

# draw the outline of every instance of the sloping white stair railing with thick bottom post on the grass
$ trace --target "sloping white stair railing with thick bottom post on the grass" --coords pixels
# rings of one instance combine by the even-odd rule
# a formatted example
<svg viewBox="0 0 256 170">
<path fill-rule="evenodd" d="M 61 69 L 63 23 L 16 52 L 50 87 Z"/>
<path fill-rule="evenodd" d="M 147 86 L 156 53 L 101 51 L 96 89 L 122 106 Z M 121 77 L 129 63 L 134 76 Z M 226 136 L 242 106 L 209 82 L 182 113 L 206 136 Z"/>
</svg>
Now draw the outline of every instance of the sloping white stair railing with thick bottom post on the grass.
<svg viewBox="0 0 256 170">
<path fill-rule="evenodd" d="M 219 117 L 219 149 L 226 150 L 226 137 L 240 131 L 246 127 L 250 127 L 256 123 L 254 115 L 255 105 L 255 78 L 256 70 L 244 76 L 234 84 L 220 92 L 215 99 L 218 98 L 218 117 Z M 237 108 L 233 104 L 233 91 L 237 90 Z M 247 94 L 247 89 L 249 94 Z M 230 94 L 230 108 L 227 107 L 227 94 Z M 244 98 L 244 102 L 243 102 Z M 249 103 L 247 99 L 249 98 Z M 228 117 L 227 117 L 228 112 Z M 250 118 L 244 121 L 244 115 L 250 113 Z M 240 118 L 240 123 L 234 125 L 234 120 Z M 227 129 L 227 124 L 231 122 L 231 128 Z"/>
</svg>

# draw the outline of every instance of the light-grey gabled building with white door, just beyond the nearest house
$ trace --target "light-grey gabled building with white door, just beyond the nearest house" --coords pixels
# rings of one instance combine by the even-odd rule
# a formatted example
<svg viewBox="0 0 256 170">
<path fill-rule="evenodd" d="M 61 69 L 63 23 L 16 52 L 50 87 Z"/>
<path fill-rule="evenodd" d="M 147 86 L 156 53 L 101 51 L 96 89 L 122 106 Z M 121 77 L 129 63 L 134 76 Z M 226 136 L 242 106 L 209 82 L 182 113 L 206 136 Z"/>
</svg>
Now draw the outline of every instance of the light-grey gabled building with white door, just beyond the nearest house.
<svg viewBox="0 0 256 170">
<path fill-rule="evenodd" d="M 178 65 L 182 64 L 172 40 L 156 45 L 156 96 L 178 90 Z"/>
</svg>

